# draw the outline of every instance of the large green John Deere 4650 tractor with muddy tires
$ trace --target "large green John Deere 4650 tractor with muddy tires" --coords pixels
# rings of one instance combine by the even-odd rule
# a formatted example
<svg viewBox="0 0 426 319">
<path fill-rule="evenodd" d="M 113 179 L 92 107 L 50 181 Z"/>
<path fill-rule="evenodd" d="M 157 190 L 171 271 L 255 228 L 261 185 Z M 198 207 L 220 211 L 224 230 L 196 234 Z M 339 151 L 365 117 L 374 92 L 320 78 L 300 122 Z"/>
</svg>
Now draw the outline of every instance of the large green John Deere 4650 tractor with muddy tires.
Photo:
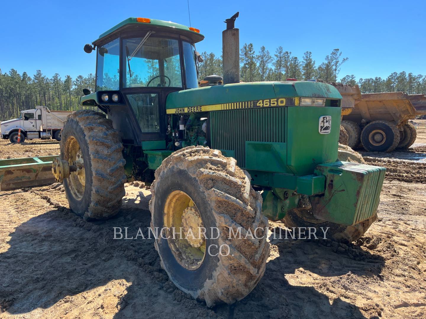
<svg viewBox="0 0 426 319">
<path fill-rule="evenodd" d="M 213 306 L 244 298 L 262 278 L 268 219 L 337 241 L 362 236 L 385 169 L 337 161 L 342 97 L 332 85 L 199 88 L 194 45 L 203 38 L 195 28 L 129 18 L 86 45 L 97 51 L 96 92 L 85 89 L 80 103 L 103 113 L 69 115 L 52 171 L 85 219 L 117 214 L 124 183 L 150 185 L 162 267 Z"/>
</svg>

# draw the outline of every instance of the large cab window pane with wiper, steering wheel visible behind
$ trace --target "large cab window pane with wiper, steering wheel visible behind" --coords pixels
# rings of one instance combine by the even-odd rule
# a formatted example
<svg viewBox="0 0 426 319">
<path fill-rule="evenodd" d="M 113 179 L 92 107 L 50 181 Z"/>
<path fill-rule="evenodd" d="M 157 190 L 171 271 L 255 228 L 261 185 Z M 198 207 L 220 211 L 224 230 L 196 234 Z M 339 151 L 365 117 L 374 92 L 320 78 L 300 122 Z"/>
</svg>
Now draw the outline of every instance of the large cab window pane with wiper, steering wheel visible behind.
<svg viewBox="0 0 426 319">
<path fill-rule="evenodd" d="M 151 36 L 123 40 L 126 76 L 123 88 L 170 86 L 181 88 L 179 41 Z"/>
</svg>

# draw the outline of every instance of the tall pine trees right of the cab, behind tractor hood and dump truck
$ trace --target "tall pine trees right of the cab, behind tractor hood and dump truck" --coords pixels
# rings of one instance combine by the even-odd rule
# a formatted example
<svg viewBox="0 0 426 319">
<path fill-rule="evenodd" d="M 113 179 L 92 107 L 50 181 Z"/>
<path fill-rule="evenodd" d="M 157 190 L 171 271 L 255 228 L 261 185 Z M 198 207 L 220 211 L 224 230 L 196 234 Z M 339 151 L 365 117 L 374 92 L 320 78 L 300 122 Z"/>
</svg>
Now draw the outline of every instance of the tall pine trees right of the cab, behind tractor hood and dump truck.
<svg viewBox="0 0 426 319">
<path fill-rule="evenodd" d="M 222 76 L 222 57 L 216 57 L 211 52 L 201 54 L 204 62 L 200 63 L 200 79 L 216 74 Z M 312 52 L 306 51 L 299 59 L 284 51 L 282 46 L 271 54 L 265 46 L 255 51 L 253 43 L 245 43 L 240 50 L 240 80 L 254 81 L 282 81 L 288 78 L 297 80 L 322 79 L 325 82 L 337 82 L 340 67 L 348 61 L 342 57 L 339 49 L 334 49 L 325 56 L 321 63 L 312 58 Z M 359 85 L 361 93 L 380 93 L 403 91 L 408 94 L 426 94 L 426 76 L 421 74 L 393 72 L 386 78 L 374 77 L 356 80 L 354 74 L 341 77 L 339 82 L 347 85 Z"/>
</svg>

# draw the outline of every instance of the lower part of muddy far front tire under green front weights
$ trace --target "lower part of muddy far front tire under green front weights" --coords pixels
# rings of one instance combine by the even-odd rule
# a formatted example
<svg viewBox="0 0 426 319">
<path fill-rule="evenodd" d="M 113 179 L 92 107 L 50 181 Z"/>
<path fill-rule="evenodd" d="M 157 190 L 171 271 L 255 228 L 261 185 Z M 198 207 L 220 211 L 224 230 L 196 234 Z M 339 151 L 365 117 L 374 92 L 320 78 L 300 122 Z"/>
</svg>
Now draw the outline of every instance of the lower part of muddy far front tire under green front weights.
<svg viewBox="0 0 426 319">
<path fill-rule="evenodd" d="M 353 226 L 336 224 L 325 220 L 316 219 L 314 215 L 307 209 L 294 209 L 288 211 L 283 219 L 285 227 L 291 229 L 293 227 L 314 227 L 318 238 L 323 238 L 322 229 L 326 231 L 326 239 L 345 244 L 354 242 L 362 237 L 371 224 L 377 219 L 377 214 Z M 321 229 L 322 227 L 322 229 Z M 296 230 L 297 231 L 297 230 Z"/>
</svg>

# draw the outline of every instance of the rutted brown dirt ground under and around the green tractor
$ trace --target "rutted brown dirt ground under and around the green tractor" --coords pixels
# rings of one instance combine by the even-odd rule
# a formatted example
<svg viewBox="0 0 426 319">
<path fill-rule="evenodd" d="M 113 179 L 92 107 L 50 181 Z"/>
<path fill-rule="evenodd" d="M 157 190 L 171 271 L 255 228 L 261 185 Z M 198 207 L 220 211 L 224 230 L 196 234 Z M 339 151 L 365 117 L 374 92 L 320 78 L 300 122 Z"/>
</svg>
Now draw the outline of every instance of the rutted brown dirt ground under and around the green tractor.
<svg viewBox="0 0 426 319">
<path fill-rule="evenodd" d="M 0 141 L 0 158 L 58 154 L 58 143 L 39 143 Z M 98 222 L 72 214 L 60 184 L 0 192 L 0 318 L 424 318 L 426 128 L 409 151 L 363 155 L 389 171 L 366 236 L 274 239 L 284 225 L 271 222 L 259 284 L 212 309 L 168 280 L 153 239 L 113 239 L 113 227 L 147 236 L 150 191 L 138 182 L 118 216 Z"/>
</svg>

